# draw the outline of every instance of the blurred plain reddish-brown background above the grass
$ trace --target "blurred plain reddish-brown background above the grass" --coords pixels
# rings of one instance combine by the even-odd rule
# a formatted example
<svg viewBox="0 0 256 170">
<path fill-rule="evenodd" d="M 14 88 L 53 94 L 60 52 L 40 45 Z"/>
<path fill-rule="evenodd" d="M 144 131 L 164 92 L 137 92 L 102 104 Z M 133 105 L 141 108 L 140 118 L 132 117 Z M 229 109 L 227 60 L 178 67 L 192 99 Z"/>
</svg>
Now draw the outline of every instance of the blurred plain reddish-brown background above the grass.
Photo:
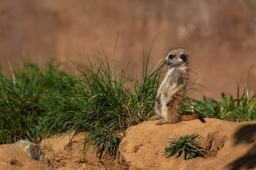
<svg viewBox="0 0 256 170">
<path fill-rule="evenodd" d="M 67 62 L 100 47 L 113 56 L 116 69 L 130 62 L 142 72 L 143 52 L 151 68 L 175 45 L 192 58 L 191 81 L 205 95 L 221 99 L 246 86 L 256 63 L 256 0 L 0 0 L 0 65 L 17 67 L 26 55 L 44 66 L 55 57 Z M 256 88 L 256 65 L 250 86 Z M 193 96 L 200 98 L 201 93 Z"/>
</svg>

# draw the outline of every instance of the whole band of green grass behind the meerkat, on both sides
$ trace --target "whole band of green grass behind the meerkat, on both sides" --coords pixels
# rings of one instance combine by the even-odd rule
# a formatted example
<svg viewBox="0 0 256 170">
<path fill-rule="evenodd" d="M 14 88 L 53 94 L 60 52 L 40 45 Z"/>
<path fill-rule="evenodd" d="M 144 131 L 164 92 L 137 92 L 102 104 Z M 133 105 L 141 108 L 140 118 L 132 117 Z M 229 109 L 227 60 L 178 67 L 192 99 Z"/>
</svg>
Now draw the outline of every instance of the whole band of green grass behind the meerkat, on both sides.
<svg viewBox="0 0 256 170">
<path fill-rule="evenodd" d="M 127 127 L 153 115 L 157 88 L 165 70 L 161 61 L 149 69 L 149 57 L 150 53 L 142 63 L 140 78 L 127 74 L 129 63 L 118 75 L 115 54 L 110 59 L 99 49 L 91 57 L 72 60 L 75 75 L 59 70 L 59 65 L 54 67 L 52 61 L 44 73 L 31 62 L 23 70 L 11 69 L 7 76 L 1 72 L 0 144 L 19 139 L 40 142 L 56 134 L 77 135 L 85 131 L 89 132 L 83 143 L 85 153 L 94 144 L 99 157 L 117 155 Z M 191 89 L 195 85 L 193 82 Z M 236 99 L 225 94 L 221 102 L 205 96 L 200 101 L 187 97 L 182 113 L 250 121 L 256 117 L 255 99 L 247 85 L 243 95 Z"/>
</svg>

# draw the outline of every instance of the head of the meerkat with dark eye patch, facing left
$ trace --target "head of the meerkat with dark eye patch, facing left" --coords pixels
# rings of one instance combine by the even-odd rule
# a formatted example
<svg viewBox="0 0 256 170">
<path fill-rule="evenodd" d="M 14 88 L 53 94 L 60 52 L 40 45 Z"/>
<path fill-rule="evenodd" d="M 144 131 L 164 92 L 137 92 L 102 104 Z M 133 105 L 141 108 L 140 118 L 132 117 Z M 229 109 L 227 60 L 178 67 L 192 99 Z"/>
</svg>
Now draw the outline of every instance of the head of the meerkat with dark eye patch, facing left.
<svg viewBox="0 0 256 170">
<path fill-rule="evenodd" d="M 175 48 L 171 50 L 163 62 L 169 66 L 175 67 L 180 65 L 189 65 L 189 54 L 183 48 Z"/>
</svg>

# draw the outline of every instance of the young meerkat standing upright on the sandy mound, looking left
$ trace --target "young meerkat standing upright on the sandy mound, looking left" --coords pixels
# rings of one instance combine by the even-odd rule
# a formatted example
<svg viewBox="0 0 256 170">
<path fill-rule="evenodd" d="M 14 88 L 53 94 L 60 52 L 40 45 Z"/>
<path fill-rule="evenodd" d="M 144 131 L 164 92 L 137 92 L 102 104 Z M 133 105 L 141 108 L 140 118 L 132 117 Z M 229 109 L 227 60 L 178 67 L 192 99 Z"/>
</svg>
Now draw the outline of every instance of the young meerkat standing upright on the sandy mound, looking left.
<svg viewBox="0 0 256 170">
<path fill-rule="evenodd" d="M 177 123 L 180 121 L 200 119 L 198 115 L 181 115 L 181 106 L 188 91 L 190 77 L 190 56 L 183 48 L 175 48 L 167 54 L 163 62 L 168 70 L 163 82 L 157 90 L 154 106 L 155 116 L 151 120 L 158 120 L 157 125 Z"/>
</svg>

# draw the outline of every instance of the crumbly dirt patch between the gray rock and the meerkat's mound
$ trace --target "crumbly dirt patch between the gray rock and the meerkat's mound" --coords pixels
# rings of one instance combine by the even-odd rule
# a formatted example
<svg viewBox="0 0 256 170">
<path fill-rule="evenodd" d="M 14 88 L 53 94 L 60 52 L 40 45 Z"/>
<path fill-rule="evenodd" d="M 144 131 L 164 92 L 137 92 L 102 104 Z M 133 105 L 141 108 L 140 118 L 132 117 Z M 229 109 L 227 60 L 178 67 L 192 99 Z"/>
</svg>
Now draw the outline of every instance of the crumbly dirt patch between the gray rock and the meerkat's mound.
<svg viewBox="0 0 256 170">
<path fill-rule="evenodd" d="M 70 143 L 70 136 L 60 136 L 41 142 L 47 157 L 56 169 L 60 170 L 128 170 L 128 164 L 122 156 L 98 159 L 93 152 L 93 145 L 87 151 L 84 161 L 83 142 L 88 133 L 80 133 Z M 73 136 L 73 134 L 72 134 Z M 71 136 L 71 137 L 72 137 Z"/>
</svg>

